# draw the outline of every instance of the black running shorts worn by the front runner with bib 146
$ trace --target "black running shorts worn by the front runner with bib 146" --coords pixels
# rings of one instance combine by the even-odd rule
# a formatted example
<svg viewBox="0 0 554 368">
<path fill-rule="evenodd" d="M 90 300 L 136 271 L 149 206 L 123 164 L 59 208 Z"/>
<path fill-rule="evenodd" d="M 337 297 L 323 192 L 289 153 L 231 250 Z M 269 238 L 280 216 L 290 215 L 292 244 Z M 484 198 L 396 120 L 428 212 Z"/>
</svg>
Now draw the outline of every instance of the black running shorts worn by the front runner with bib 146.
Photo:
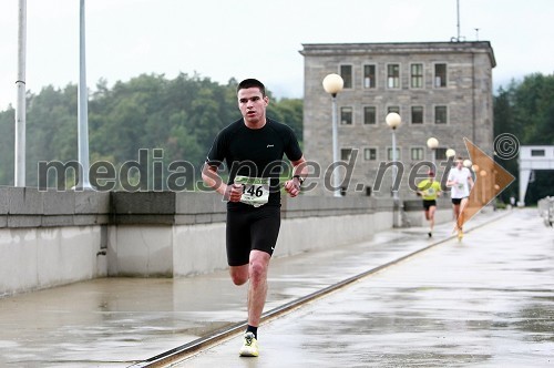
<svg viewBox="0 0 554 368">
<path fill-rule="evenodd" d="M 280 206 L 227 208 L 227 263 L 229 266 L 248 264 L 250 251 L 273 255 L 280 227 Z"/>
</svg>

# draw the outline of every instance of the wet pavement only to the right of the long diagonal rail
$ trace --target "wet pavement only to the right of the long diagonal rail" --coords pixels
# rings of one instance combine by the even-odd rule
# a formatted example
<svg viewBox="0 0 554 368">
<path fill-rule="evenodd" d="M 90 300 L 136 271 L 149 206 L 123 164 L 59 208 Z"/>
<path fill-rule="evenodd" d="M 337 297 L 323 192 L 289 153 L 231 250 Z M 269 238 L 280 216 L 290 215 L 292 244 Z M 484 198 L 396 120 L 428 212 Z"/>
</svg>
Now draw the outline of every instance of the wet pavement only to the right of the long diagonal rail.
<svg viewBox="0 0 554 368">
<path fill-rule="evenodd" d="M 554 229 L 507 217 L 263 325 L 179 367 L 554 367 Z"/>
</svg>

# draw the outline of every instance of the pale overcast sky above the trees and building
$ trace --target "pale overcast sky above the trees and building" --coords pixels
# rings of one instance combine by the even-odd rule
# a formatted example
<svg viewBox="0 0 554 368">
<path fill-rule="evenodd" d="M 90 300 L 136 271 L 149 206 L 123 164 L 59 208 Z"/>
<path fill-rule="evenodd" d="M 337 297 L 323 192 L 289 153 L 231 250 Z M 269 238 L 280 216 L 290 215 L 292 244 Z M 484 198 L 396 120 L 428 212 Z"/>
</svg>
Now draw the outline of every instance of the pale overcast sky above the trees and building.
<svg viewBox="0 0 554 368">
<path fill-rule="evenodd" d="M 79 81 L 79 0 L 27 0 L 27 89 Z M 490 41 L 494 90 L 554 71 L 554 1 L 459 0 L 460 35 Z M 18 0 L 0 4 L 0 110 L 16 104 Z M 458 37 L 456 0 L 86 0 L 86 79 L 198 73 L 258 78 L 301 98 L 302 43 L 425 42 Z M 478 29 L 478 30 L 476 30 Z"/>
</svg>

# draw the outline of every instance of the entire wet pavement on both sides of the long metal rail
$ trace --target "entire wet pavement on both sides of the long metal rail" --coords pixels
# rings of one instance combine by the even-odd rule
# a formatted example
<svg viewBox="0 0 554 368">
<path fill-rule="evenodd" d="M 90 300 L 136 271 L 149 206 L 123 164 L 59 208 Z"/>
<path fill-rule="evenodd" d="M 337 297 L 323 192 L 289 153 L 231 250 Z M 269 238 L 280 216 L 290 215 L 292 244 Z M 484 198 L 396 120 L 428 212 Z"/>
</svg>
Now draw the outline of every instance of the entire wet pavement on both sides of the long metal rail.
<svg viewBox="0 0 554 368">
<path fill-rule="evenodd" d="M 499 218 L 483 225 L 493 218 Z M 554 231 L 533 209 L 484 213 L 448 241 L 181 367 L 554 367 Z M 473 228 L 473 229 L 472 229 Z M 447 239 L 424 228 L 271 260 L 265 310 Z M 244 321 L 227 272 L 105 278 L 0 298 L 0 367 L 129 367 Z"/>
</svg>

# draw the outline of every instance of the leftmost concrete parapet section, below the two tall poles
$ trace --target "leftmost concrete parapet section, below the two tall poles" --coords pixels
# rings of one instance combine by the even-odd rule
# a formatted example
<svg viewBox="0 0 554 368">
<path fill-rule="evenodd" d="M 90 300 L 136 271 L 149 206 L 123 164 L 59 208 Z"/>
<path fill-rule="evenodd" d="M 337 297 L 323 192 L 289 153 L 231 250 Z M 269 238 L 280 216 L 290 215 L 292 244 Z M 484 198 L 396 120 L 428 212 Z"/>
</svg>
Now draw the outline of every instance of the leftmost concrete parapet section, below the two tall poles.
<svg viewBox="0 0 554 368">
<path fill-rule="evenodd" d="M 0 296 L 106 275 L 110 194 L 0 188 Z"/>
</svg>

